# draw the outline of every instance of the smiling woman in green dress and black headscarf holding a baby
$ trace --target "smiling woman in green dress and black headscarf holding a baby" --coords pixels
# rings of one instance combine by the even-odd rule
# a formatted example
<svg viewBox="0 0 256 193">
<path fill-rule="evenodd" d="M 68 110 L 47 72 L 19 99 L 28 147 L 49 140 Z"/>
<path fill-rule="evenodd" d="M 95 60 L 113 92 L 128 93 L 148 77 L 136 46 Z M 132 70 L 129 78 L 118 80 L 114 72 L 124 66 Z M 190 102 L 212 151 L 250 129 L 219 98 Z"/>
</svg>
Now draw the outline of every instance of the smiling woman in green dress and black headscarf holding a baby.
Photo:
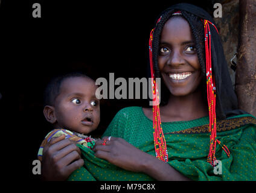
<svg viewBox="0 0 256 193">
<path fill-rule="evenodd" d="M 165 105 L 120 110 L 93 151 L 54 139 L 43 153 L 45 179 L 256 180 L 256 120 L 237 110 L 211 16 L 190 4 L 165 10 L 150 36 L 150 63 Z"/>
</svg>

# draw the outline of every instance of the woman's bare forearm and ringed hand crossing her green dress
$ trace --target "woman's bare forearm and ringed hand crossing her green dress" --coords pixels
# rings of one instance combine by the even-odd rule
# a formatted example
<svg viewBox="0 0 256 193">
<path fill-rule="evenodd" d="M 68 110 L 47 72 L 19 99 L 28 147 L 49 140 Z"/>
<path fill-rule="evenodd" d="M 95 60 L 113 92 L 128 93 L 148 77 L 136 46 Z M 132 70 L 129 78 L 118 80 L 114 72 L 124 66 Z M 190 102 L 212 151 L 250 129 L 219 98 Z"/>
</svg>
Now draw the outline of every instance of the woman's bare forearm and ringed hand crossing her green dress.
<svg viewBox="0 0 256 193">
<path fill-rule="evenodd" d="M 103 139 L 107 139 L 104 137 Z M 120 168 L 134 172 L 144 172 L 156 180 L 190 180 L 183 176 L 168 163 L 162 162 L 156 157 L 147 154 L 121 138 L 112 137 L 106 145 L 103 140 L 97 141 L 93 150 L 95 156 L 106 159 Z"/>
</svg>

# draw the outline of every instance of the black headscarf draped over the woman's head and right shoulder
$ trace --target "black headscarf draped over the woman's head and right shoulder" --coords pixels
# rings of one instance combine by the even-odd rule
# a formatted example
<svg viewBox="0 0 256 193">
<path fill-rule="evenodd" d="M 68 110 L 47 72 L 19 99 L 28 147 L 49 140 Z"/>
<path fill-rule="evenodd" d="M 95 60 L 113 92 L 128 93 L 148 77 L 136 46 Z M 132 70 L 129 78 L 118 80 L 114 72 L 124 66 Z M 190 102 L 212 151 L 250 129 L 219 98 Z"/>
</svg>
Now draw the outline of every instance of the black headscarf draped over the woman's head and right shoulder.
<svg viewBox="0 0 256 193">
<path fill-rule="evenodd" d="M 213 17 L 196 5 L 187 3 L 176 4 L 167 8 L 167 10 L 184 10 L 198 16 L 201 19 L 206 19 L 215 25 Z M 210 30 L 211 62 L 216 81 L 216 115 L 217 121 L 220 121 L 228 118 L 229 116 L 246 114 L 246 112 L 237 109 L 237 96 L 235 95 L 232 87 L 232 81 L 229 75 L 228 65 L 225 60 L 222 42 L 219 34 L 213 26 L 210 26 Z"/>
</svg>

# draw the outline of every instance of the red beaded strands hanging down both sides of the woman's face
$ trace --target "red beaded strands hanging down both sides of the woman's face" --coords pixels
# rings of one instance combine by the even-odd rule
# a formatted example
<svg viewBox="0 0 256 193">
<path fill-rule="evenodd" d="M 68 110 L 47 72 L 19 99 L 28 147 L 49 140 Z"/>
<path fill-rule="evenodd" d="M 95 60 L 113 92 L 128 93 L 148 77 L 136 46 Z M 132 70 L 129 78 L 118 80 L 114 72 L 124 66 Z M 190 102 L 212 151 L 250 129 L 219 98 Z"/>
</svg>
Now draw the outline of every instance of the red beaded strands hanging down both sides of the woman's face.
<svg viewBox="0 0 256 193">
<path fill-rule="evenodd" d="M 176 11 L 172 14 L 182 15 L 181 11 Z M 161 21 L 162 16 L 156 22 L 156 25 Z M 216 139 L 216 86 L 215 86 L 215 78 L 212 73 L 211 68 L 211 31 L 210 25 L 217 30 L 216 26 L 212 24 L 210 21 L 202 20 L 203 26 L 205 29 L 205 55 L 206 55 L 206 84 L 207 84 L 207 99 L 208 99 L 208 107 L 209 107 L 209 131 L 210 131 L 210 150 L 207 158 L 207 162 L 214 166 L 216 160 L 215 151 L 216 151 L 216 142 L 221 145 L 222 149 L 226 152 L 228 157 L 230 157 L 230 152 L 225 145 L 222 145 L 219 140 Z M 160 110 L 159 110 L 159 93 L 158 93 L 158 84 L 155 81 L 155 74 L 153 69 L 153 53 L 152 53 L 152 42 L 153 42 L 153 33 L 155 28 L 150 33 L 149 39 L 149 57 L 150 57 L 150 72 L 152 77 L 152 93 L 153 93 L 153 135 L 154 135 L 154 145 L 156 151 L 156 157 L 161 159 L 164 162 L 168 162 L 168 152 L 166 147 L 166 142 L 164 138 L 164 133 L 162 131 L 162 124 L 160 118 Z"/>
</svg>

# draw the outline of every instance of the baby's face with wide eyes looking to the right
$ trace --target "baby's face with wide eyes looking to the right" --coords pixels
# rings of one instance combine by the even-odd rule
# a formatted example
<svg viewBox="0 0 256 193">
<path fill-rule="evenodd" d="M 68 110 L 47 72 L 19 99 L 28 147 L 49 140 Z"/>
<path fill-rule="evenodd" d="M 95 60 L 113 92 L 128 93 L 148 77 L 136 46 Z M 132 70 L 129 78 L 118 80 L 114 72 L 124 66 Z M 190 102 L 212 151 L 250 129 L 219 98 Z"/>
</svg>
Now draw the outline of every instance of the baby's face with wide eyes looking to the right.
<svg viewBox="0 0 256 193">
<path fill-rule="evenodd" d="M 96 98 L 95 82 L 85 77 L 64 80 L 56 98 L 56 126 L 88 134 L 100 123 L 100 101 Z"/>
</svg>

